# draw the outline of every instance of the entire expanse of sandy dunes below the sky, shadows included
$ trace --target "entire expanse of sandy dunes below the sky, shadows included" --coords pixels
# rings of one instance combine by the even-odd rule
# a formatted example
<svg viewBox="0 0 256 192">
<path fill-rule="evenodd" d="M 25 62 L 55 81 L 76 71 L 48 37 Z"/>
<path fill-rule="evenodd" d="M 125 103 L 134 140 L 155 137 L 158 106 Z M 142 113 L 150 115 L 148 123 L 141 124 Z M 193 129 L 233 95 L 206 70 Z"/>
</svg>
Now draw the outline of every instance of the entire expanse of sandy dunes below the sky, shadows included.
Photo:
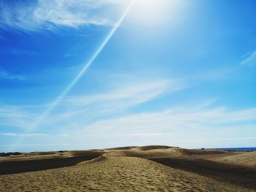
<svg viewBox="0 0 256 192">
<path fill-rule="evenodd" d="M 256 191 L 256 152 L 168 146 L 0 157 L 0 191 Z"/>
</svg>

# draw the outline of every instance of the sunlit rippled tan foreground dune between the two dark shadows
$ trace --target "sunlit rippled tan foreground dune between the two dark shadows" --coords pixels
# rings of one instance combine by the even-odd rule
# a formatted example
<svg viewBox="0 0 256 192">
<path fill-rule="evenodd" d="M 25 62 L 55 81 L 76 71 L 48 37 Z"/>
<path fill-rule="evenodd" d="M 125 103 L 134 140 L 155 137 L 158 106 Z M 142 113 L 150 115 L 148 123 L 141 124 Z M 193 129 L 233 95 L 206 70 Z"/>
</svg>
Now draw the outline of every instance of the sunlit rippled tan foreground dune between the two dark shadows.
<svg viewBox="0 0 256 192">
<path fill-rule="evenodd" d="M 245 191 L 134 157 L 0 177 L 0 191 Z"/>
</svg>

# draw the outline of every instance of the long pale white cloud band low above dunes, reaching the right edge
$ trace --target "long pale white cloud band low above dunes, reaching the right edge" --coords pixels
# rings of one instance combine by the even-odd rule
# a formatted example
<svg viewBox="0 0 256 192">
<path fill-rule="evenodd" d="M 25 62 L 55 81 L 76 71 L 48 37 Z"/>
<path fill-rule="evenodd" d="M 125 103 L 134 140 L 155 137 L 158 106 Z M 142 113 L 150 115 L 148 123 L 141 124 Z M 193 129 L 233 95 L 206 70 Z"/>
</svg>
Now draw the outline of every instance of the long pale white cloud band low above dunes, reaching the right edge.
<svg viewBox="0 0 256 192">
<path fill-rule="evenodd" d="M 127 115 L 121 118 L 98 120 L 86 126 L 85 130 L 93 132 L 108 132 L 109 134 L 143 134 L 163 133 L 162 136 L 169 137 L 170 134 L 181 135 L 193 131 L 217 131 L 230 128 L 236 123 L 236 127 L 252 123 L 256 120 L 256 108 L 245 110 L 227 110 L 225 107 L 201 108 L 201 107 L 173 107 L 161 112 L 146 112 Z M 256 127 L 255 123 L 252 126 Z M 235 128 L 235 126 L 233 126 Z M 139 131 L 139 132 L 138 132 Z M 143 134 L 140 132 L 143 131 Z"/>
</svg>

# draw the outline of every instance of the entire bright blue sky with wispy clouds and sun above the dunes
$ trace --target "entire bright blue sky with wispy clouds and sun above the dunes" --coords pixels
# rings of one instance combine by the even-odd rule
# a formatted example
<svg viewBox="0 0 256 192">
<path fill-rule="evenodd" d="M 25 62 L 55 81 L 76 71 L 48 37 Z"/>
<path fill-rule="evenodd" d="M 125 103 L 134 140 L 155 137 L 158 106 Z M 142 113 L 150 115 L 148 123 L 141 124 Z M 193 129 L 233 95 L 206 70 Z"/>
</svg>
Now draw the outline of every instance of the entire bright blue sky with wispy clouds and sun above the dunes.
<svg viewBox="0 0 256 192">
<path fill-rule="evenodd" d="M 0 151 L 256 147 L 255 8 L 0 0 Z"/>
</svg>

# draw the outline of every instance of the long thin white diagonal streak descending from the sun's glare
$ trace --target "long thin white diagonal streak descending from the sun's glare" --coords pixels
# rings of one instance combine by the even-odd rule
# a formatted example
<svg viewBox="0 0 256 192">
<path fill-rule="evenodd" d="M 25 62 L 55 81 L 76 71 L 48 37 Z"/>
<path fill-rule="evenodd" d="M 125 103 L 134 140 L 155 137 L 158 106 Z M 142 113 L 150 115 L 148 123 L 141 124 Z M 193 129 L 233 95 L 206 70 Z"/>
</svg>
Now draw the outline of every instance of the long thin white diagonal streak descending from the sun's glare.
<svg viewBox="0 0 256 192">
<path fill-rule="evenodd" d="M 61 95 L 52 103 L 50 104 L 50 107 L 48 107 L 47 110 L 45 110 L 45 112 L 43 112 L 43 114 L 37 119 L 37 121 L 31 126 L 31 129 L 36 128 L 39 123 L 42 122 L 43 119 L 45 119 L 45 117 L 60 103 L 61 99 L 67 95 L 67 93 L 70 91 L 70 89 L 75 85 L 76 82 L 78 82 L 78 80 L 80 80 L 80 77 L 83 76 L 83 74 L 87 71 L 87 69 L 89 69 L 89 66 L 91 66 L 91 64 L 94 62 L 95 58 L 97 58 L 97 56 L 99 55 L 99 53 L 102 51 L 102 49 L 105 47 L 105 45 L 107 45 L 108 41 L 110 40 L 110 38 L 113 36 L 113 34 L 116 32 L 116 29 L 118 28 L 118 26 L 120 26 L 121 22 L 124 20 L 124 18 L 126 17 L 127 13 L 129 12 L 129 9 L 132 7 L 132 4 L 134 4 L 135 0 L 132 0 L 131 3 L 129 4 L 129 6 L 127 7 L 127 9 L 124 11 L 124 14 L 121 15 L 121 18 L 118 20 L 118 22 L 116 23 L 116 25 L 111 29 L 110 33 L 108 34 L 108 36 L 106 37 L 106 39 L 102 42 L 102 44 L 99 46 L 99 48 L 97 49 L 97 51 L 94 53 L 94 55 L 92 55 L 92 57 L 90 58 L 90 60 L 85 64 L 85 66 L 83 66 L 83 69 L 78 73 L 78 75 L 75 77 L 74 80 L 72 80 L 72 82 L 70 82 L 70 84 L 67 86 L 67 88 L 61 93 Z"/>
</svg>

